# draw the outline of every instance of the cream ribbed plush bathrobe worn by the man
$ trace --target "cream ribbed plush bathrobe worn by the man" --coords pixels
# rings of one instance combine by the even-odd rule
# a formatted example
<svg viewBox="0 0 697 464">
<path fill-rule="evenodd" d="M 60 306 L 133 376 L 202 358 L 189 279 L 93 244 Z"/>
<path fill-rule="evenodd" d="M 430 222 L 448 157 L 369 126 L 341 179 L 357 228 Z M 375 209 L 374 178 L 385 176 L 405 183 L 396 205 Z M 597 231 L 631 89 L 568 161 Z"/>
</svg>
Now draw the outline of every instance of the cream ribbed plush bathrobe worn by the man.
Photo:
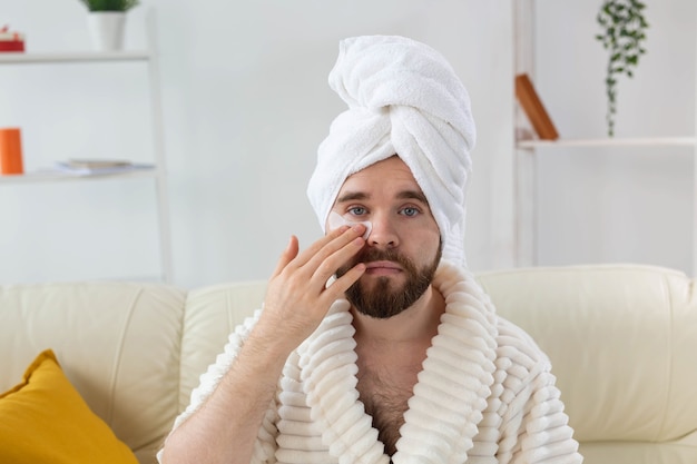
<svg viewBox="0 0 697 464">
<path fill-rule="evenodd" d="M 409 399 L 392 462 L 582 462 L 549 359 L 530 336 L 497 316 L 465 270 L 444 263 L 433 285 L 446 309 Z M 210 395 L 258 315 L 230 335 L 175 427 Z M 348 303 L 337 300 L 288 357 L 253 463 L 391 462 L 359 401 L 353 334 Z"/>
</svg>

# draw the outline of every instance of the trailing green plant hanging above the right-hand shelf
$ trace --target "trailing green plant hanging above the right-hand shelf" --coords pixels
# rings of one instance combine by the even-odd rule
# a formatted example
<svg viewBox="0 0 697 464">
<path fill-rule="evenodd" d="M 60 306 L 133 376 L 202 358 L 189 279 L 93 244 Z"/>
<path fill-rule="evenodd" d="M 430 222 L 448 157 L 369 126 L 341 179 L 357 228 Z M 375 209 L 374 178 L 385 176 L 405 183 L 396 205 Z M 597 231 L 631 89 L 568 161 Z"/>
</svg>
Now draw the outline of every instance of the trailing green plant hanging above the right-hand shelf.
<svg viewBox="0 0 697 464">
<path fill-rule="evenodd" d="M 603 0 L 597 21 L 602 33 L 596 39 L 608 50 L 608 66 L 605 79 L 607 93 L 608 136 L 615 136 L 615 115 L 617 112 L 617 78 L 621 75 L 634 77 L 639 65 L 639 57 L 646 53 L 644 41 L 649 27 L 645 18 L 645 8 L 639 0 Z"/>
</svg>

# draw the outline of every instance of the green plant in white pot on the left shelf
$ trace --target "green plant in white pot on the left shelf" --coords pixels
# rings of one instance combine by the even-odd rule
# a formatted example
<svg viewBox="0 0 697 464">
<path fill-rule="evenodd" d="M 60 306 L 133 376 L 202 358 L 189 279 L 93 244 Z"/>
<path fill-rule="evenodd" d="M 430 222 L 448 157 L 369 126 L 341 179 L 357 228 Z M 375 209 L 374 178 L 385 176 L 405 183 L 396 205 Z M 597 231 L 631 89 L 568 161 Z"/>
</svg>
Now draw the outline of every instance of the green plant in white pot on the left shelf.
<svg viewBox="0 0 697 464">
<path fill-rule="evenodd" d="M 88 26 L 92 46 L 97 51 L 116 51 L 124 48 L 126 12 L 139 0 L 80 0 L 89 10 Z"/>
</svg>

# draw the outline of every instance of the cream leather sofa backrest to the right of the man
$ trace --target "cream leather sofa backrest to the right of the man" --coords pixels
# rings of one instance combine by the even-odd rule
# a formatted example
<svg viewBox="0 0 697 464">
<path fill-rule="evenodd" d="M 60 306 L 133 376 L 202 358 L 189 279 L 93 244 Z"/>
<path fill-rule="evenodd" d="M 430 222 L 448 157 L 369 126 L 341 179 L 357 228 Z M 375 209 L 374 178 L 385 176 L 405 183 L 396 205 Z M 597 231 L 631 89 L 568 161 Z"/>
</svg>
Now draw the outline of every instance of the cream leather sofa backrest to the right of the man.
<svg viewBox="0 0 697 464">
<path fill-rule="evenodd" d="M 617 442 L 636 445 L 634 462 L 697 462 L 693 279 L 636 265 L 511 269 L 478 278 L 498 313 L 551 358 L 587 463 L 630 462 L 613 461 L 617 450 L 608 444 Z M 658 453 L 645 446 L 658 443 L 666 444 Z"/>
</svg>

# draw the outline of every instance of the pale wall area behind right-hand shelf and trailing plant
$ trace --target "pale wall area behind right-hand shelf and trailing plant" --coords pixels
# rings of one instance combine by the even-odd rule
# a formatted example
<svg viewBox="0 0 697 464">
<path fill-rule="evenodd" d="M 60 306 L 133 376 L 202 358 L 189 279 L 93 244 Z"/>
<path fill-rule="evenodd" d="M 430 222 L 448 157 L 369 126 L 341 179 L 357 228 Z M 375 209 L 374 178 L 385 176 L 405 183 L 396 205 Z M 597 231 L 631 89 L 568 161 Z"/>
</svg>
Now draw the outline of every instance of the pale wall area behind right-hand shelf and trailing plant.
<svg viewBox="0 0 697 464">
<path fill-rule="evenodd" d="M 606 136 L 600 1 L 537 0 L 537 86 L 562 138 Z M 620 78 L 616 138 L 695 134 L 697 2 L 647 1 L 647 55 Z M 693 273 L 689 147 L 539 150 L 538 264 L 650 263 Z"/>
</svg>

